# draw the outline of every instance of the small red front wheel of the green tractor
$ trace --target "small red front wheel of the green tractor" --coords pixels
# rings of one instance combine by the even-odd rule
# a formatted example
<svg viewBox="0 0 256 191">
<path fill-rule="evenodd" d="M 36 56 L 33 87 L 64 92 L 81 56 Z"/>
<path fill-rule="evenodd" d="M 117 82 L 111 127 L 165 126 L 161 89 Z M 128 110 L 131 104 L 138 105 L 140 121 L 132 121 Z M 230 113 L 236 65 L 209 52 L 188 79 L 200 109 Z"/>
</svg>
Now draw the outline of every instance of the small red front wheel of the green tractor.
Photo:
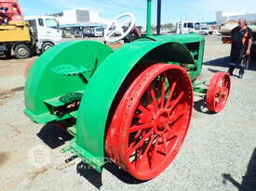
<svg viewBox="0 0 256 191">
<path fill-rule="evenodd" d="M 231 87 L 230 75 L 224 72 L 215 73 L 209 83 L 206 102 L 209 111 L 218 113 L 224 108 Z"/>
</svg>

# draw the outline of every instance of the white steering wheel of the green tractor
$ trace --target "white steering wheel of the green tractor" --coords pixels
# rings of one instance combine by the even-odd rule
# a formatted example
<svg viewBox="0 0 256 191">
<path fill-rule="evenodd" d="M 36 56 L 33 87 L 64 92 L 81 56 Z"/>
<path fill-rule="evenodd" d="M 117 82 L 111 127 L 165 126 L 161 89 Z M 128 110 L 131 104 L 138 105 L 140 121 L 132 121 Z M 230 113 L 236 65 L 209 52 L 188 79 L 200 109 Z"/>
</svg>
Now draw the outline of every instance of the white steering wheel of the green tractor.
<svg viewBox="0 0 256 191">
<path fill-rule="evenodd" d="M 123 22 L 119 22 L 120 20 L 125 20 Z M 130 23 L 127 30 L 124 30 L 123 27 L 125 27 L 126 23 Z M 105 41 L 114 43 L 116 41 L 122 40 L 124 37 L 128 35 L 128 33 L 132 30 L 132 28 L 135 26 L 135 17 L 131 13 L 124 13 L 118 17 L 116 17 L 114 20 L 111 21 L 111 23 L 108 25 L 104 38 Z M 120 36 L 114 36 L 116 33 L 120 33 Z"/>
</svg>

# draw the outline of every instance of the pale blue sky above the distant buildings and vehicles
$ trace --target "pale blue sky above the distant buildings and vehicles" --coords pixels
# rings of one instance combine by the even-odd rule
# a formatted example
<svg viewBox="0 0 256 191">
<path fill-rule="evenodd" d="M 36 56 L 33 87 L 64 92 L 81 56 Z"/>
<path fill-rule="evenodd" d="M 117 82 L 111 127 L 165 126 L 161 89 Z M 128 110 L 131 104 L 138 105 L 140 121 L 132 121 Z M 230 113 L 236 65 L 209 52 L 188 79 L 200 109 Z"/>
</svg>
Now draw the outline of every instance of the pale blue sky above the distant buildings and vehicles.
<svg viewBox="0 0 256 191">
<path fill-rule="evenodd" d="M 154 22 L 156 0 L 154 4 Z M 20 0 L 25 16 L 56 13 L 69 8 L 89 8 L 100 12 L 101 18 L 114 19 L 115 16 L 131 12 L 138 24 L 146 19 L 146 0 Z M 256 13 L 255 0 L 162 0 L 163 23 L 175 23 L 182 19 L 214 21 L 218 10 Z"/>
</svg>

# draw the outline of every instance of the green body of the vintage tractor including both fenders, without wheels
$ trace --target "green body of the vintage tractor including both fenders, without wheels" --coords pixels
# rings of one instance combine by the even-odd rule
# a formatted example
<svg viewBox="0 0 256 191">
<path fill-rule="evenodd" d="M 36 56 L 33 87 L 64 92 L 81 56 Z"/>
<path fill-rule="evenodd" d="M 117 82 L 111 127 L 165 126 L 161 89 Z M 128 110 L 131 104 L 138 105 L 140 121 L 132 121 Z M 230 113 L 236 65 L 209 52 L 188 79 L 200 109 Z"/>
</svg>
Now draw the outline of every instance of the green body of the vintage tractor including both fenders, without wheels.
<svg viewBox="0 0 256 191">
<path fill-rule="evenodd" d="M 93 41 L 56 45 L 37 58 L 27 77 L 25 114 L 36 123 L 54 121 L 68 126 L 74 139 L 67 150 L 98 172 L 108 157 L 105 139 L 110 118 L 115 117 L 118 96 L 132 83 L 131 73 L 148 63 L 175 65 L 187 72 L 195 92 L 208 92 L 195 84 L 202 70 L 204 37 L 195 33 L 153 35 L 151 0 L 147 21 L 145 37 L 115 51 Z"/>
</svg>

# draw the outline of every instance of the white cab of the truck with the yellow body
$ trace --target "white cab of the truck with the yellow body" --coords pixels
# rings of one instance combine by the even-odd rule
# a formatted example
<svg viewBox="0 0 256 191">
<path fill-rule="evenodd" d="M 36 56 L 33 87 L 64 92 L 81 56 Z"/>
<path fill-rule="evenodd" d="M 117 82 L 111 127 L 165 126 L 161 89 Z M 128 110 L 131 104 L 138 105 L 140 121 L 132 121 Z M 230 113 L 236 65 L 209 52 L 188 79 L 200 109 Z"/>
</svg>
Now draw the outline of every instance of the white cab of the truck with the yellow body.
<svg viewBox="0 0 256 191">
<path fill-rule="evenodd" d="M 53 16 L 30 16 L 25 17 L 25 20 L 30 23 L 37 53 L 43 53 L 48 48 L 61 43 L 62 32 L 59 22 Z"/>
</svg>

